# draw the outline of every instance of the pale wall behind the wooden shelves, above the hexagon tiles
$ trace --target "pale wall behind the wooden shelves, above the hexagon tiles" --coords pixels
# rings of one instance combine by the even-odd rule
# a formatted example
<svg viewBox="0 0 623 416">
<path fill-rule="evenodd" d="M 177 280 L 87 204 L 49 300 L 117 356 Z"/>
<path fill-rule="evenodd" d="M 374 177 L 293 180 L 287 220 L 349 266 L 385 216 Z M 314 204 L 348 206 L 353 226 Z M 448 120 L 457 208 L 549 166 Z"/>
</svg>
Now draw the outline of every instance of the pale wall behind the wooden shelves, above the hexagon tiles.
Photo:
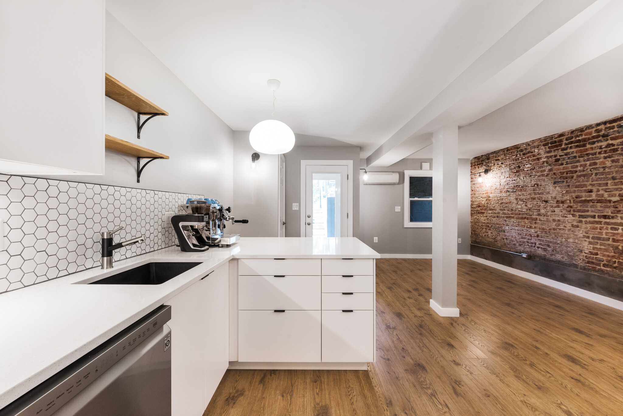
<svg viewBox="0 0 623 416">
<path fill-rule="evenodd" d="M 169 160 L 155 160 L 136 183 L 136 158 L 106 151 L 102 176 L 54 176 L 70 181 L 198 193 L 233 200 L 233 132 L 110 12 L 106 13 L 106 72 L 169 112 L 146 123 L 136 138 L 136 113 L 106 97 L 106 133 Z"/>
</svg>

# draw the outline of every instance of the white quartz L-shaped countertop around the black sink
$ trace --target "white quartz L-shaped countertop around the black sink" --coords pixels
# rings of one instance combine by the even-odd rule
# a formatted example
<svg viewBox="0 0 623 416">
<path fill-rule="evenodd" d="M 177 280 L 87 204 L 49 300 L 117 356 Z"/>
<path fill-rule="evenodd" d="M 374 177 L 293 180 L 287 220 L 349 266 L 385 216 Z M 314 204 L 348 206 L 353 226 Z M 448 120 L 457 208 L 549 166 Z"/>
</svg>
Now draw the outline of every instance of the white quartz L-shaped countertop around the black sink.
<svg viewBox="0 0 623 416">
<path fill-rule="evenodd" d="M 183 253 L 169 247 L 0 294 L 0 409 L 232 258 L 379 258 L 357 238 L 240 238 Z M 149 261 L 201 261 L 158 285 L 75 284 Z"/>
</svg>

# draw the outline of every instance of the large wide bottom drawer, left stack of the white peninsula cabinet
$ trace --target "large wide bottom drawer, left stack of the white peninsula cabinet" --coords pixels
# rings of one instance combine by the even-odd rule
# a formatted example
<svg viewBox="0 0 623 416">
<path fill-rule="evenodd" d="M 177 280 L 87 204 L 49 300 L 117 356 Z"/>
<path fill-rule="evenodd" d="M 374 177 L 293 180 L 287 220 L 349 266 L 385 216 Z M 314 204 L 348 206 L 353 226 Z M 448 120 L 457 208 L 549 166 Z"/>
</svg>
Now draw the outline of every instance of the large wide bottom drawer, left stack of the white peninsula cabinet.
<svg viewBox="0 0 623 416">
<path fill-rule="evenodd" d="M 238 360 L 320 362 L 320 311 L 240 311 Z"/>
</svg>

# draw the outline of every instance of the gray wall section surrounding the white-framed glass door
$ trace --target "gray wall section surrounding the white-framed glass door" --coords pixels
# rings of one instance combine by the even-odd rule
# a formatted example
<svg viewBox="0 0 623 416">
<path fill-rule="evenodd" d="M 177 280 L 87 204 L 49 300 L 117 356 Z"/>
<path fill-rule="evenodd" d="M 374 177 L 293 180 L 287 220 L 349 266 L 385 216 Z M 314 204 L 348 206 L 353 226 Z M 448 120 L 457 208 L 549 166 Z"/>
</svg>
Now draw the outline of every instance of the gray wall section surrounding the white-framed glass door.
<svg viewBox="0 0 623 416">
<path fill-rule="evenodd" d="M 299 208 L 302 206 L 300 201 L 301 160 L 352 160 L 353 179 L 356 180 L 359 170 L 359 146 L 295 146 L 284 156 L 285 236 L 300 237 L 300 213 L 302 211 L 292 210 L 292 203 L 298 203 Z M 353 236 L 359 237 L 359 186 L 356 182 L 353 185 L 353 211 Z"/>
</svg>

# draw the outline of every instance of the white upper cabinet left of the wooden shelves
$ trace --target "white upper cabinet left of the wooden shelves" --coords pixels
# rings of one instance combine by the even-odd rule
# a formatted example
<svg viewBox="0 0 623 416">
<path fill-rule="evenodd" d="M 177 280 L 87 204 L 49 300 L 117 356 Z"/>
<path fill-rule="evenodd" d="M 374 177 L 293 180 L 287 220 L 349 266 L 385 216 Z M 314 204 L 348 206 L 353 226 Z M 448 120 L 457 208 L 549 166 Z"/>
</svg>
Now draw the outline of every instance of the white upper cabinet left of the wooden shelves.
<svg viewBox="0 0 623 416">
<path fill-rule="evenodd" d="M 104 1 L 0 1 L 0 172 L 104 173 Z"/>
</svg>

